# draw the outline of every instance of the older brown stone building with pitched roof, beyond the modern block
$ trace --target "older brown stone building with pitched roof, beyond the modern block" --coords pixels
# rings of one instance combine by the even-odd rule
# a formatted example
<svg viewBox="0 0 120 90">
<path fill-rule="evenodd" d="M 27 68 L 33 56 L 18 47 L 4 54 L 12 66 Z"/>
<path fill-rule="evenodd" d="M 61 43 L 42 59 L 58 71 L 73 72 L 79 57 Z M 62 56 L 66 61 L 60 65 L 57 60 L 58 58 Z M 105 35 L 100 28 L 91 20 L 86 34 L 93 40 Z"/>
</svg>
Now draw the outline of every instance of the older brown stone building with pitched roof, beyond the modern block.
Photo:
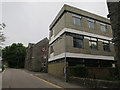
<svg viewBox="0 0 120 90">
<path fill-rule="evenodd" d="M 44 38 L 37 44 L 29 43 L 26 50 L 25 69 L 47 72 L 49 41 Z"/>
</svg>

